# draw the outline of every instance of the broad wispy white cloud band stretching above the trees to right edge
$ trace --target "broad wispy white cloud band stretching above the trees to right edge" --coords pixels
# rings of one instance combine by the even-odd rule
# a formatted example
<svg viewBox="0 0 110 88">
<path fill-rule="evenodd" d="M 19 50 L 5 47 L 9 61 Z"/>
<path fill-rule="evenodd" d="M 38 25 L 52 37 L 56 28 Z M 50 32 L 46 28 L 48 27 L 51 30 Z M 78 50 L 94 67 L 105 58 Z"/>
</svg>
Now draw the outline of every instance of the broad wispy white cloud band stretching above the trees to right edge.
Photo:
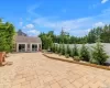
<svg viewBox="0 0 110 88">
<path fill-rule="evenodd" d="M 96 26 L 103 26 L 105 24 L 110 23 L 110 9 L 103 10 L 100 14 L 88 18 L 79 18 L 72 20 L 57 20 L 53 21 L 48 18 L 37 18 L 33 22 L 37 26 L 46 28 L 50 30 L 54 30 L 55 33 L 59 33 L 62 28 L 66 32 L 69 32 L 73 35 L 84 35 L 90 31 L 90 29 Z"/>
</svg>

